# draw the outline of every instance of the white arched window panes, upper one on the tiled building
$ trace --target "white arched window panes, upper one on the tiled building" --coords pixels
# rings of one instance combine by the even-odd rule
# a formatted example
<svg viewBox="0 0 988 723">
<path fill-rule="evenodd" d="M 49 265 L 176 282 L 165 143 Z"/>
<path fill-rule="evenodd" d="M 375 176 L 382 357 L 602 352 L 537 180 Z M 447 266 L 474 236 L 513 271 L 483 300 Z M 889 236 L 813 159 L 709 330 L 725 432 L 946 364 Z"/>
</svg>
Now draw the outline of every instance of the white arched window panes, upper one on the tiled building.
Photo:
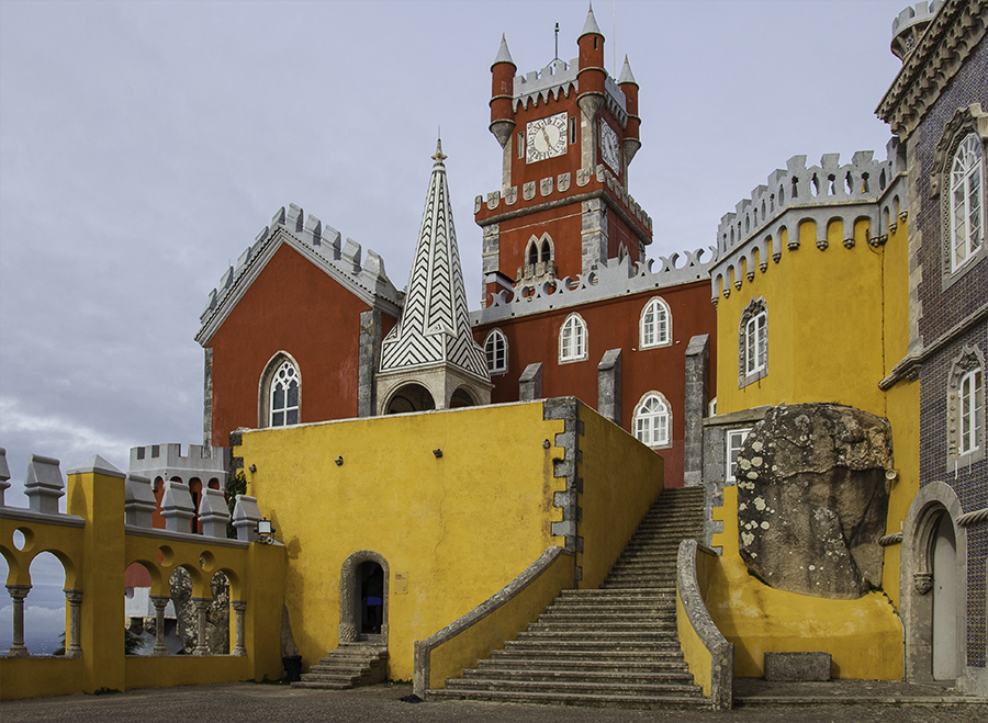
<svg viewBox="0 0 988 723">
<path fill-rule="evenodd" d="M 981 142 L 970 133 L 951 165 L 951 271 L 970 261 L 985 244 L 983 166 Z"/>
</svg>

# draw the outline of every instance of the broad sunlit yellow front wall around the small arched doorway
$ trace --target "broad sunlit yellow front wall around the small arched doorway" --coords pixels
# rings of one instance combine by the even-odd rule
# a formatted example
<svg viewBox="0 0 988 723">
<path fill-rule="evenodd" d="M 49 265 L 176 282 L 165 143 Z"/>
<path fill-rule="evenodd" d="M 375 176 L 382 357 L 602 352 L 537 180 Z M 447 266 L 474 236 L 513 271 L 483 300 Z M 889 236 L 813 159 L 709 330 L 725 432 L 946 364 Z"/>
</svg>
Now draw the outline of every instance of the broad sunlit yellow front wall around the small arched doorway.
<svg viewBox="0 0 988 723">
<path fill-rule="evenodd" d="M 288 549 L 303 666 L 338 644 L 340 571 L 356 552 L 388 562 L 389 676 L 411 679 L 415 641 L 564 544 L 551 534 L 553 494 L 565 487 L 552 465 L 562 431 L 531 403 L 245 432 L 234 454 L 256 466 L 247 492 Z"/>
</svg>

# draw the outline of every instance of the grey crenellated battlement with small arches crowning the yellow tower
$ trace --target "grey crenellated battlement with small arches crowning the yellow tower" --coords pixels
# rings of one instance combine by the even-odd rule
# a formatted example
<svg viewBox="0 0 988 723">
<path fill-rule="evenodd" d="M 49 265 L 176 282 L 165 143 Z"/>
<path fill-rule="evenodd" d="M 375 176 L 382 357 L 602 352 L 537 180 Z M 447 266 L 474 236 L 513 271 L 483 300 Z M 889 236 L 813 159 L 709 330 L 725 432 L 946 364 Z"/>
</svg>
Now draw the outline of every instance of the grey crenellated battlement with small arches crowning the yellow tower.
<svg viewBox="0 0 988 723">
<path fill-rule="evenodd" d="M 794 156 L 786 170 L 776 169 L 767 183 L 755 187 L 751 197 L 725 214 L 717 229 L 717 259 L 710 269 L 712 301 L 740 291 L 755 271 L 767 271 L 770 259 L 778 263 L 783 251 L 798 251 L 805 224 L 815 227 L 813 245 L 853 249 L 858 242 L 878 247 L 906 218 L 905 148 L 898 138 L 886 146 L 887 159 L 876 161 L 872 151 L 860 150 L 850 163 L 839 154 L 827 154 L 819 166 L 806 166 L 806 156 Z M 840 224 L 841 238 L 831 231 Z"/>
</svg>

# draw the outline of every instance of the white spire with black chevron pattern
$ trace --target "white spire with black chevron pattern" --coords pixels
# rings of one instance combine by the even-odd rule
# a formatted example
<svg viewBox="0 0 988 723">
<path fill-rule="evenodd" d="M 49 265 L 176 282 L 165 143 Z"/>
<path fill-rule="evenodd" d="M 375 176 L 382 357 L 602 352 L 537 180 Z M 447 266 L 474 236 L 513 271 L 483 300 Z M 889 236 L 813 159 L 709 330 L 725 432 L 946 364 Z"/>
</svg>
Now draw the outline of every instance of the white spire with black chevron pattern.
<svg viewBox="0 0 988 723">
<path fill-rule="evenodd" d="M 382 343 L 381 371 L 448 363 L 490 380 L 484 350 L 470 330 L 441 140 L 433 159 L 405 307 Z"/>
</svg>

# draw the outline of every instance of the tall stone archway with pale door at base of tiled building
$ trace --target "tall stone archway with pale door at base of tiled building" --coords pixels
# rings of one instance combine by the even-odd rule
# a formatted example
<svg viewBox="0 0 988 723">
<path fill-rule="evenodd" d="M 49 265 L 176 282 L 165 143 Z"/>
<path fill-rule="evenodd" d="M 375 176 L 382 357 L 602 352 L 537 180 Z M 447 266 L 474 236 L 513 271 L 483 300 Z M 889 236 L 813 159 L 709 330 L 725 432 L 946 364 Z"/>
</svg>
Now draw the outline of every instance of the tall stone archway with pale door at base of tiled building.
<svg viewBox="0 0 988 723">
<path fill-rule="evenodd" d="M 953 680 L 964 674 L 967 530 L 957 524 L 959 516 L 953 488 L 933 482 L 919 492 L 906 518 L 899 586 L 907 680 Z"/>
</svg>

